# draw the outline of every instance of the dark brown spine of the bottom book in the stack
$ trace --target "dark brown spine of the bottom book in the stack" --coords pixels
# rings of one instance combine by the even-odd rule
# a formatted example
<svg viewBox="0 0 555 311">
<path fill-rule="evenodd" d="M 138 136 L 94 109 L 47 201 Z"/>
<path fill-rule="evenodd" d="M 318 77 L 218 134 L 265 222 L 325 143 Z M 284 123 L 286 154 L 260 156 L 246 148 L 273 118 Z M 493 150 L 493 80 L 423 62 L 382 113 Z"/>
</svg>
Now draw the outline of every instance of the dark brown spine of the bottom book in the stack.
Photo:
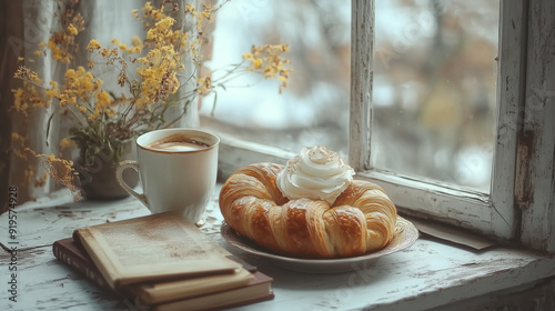
<svg viewBox="0 0 555 311">
<path fill-rule="evenodd" d="M 100 271 L 95 267 L 92 267 L 89 261 L 74 254 L 65 247 L 57 242 L 54 242 L 54 244 L 52 245 L 52 252 L 59 261 L 73 269 L 75 272 L 80 273 L 99 288 L 109 293 L 117 294 L 117 292 L 112 290 L 104 281 L 104 278 L 102 277 Z"/>
</svg>

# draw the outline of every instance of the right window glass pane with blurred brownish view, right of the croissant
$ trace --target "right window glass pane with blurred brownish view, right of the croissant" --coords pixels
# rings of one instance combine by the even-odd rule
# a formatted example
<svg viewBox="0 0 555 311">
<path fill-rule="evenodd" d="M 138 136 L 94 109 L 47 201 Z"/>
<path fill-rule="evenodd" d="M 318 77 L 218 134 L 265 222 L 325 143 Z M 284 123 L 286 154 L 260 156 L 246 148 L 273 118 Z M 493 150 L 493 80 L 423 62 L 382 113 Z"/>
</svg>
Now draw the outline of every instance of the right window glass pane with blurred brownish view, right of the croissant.
<svg viewBox="0 0 555 311">
<path fill-rule="evenodd" d="M 373 167 L 490 191 L 498 6 L 375 2 Z"/>
</svg>

